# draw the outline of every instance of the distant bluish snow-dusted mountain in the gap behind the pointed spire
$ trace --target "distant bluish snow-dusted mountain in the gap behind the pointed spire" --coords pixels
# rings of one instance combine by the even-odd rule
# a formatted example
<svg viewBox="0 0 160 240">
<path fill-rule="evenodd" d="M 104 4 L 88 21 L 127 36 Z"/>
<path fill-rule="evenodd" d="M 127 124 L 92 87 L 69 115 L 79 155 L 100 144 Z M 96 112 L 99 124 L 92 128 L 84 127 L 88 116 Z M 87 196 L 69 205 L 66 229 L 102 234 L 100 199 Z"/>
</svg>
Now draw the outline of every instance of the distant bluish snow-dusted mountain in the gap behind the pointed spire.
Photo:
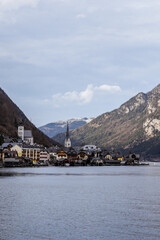
<svg viewBox="0 0 160 240">
<path fill-rule="evenodd" d="M 57 121 L 48 123 L 39 129 L 46 134 L 48 137 L 54 137 L 55 135 L 59 133 L 66 132 L 67 128 L 67 122 L 69 123 L 69 129 L 74 130 L 76 128 L 79 128 L 86 123 L 89 123 L 93 118 L 78 118 L 78 119 L 69 119 L 67 121 Z"/>
</svg>

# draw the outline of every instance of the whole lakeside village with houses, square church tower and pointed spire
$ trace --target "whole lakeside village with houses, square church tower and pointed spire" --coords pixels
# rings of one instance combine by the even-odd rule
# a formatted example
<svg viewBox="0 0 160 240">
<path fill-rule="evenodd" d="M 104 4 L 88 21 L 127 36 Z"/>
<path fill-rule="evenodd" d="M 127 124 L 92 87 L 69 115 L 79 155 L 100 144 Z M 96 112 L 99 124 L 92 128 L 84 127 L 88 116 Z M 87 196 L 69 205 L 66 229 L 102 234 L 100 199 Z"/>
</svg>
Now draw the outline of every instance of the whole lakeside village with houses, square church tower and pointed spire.
<svg viewBox="0 0 160 240">
<path fill-rule="evenodd" d="M 34 143 L 31 130 L 18 127 L 18 139 L 4 136 L 0 146 L 0 167 L 140 165 L 140 155 L 109 152 L 95 145 L 72 147 L 67 124 L 64 146 L 45 148 Z"/>
</svg>

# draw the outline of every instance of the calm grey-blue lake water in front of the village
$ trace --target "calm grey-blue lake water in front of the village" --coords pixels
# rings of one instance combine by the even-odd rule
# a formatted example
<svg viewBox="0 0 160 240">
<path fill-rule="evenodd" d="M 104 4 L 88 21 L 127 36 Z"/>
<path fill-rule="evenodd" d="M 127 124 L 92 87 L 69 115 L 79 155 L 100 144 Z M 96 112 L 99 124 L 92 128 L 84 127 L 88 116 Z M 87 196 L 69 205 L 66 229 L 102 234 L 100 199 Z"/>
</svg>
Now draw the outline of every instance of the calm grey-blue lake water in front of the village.
<svg viewBox="0 0 160 240">
<path fill-rule="evenodd" d="M 0 240 L 159 240 L 160 165 L 0 169 Z"/>
</svg>

